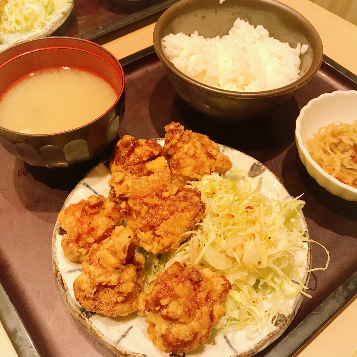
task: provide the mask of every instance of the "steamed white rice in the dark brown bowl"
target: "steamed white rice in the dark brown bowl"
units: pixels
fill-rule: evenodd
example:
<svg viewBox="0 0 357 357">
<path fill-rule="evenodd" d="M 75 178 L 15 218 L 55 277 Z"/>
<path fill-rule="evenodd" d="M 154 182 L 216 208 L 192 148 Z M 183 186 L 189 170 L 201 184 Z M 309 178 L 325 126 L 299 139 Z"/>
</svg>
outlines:
<svg viewBox="0 0 357 357">
<path fill-rule="evenodd" d="M 198 32 L 170 34 L 163 41 L 169 60 L 187 76 L 232 91 L 265 91 L 292 83 L 300 76 L 300 54 L 308 45 L 291 48 L 237 19 L 228 35 L 206 39 Z"/>
</svg>

